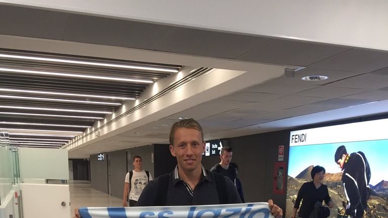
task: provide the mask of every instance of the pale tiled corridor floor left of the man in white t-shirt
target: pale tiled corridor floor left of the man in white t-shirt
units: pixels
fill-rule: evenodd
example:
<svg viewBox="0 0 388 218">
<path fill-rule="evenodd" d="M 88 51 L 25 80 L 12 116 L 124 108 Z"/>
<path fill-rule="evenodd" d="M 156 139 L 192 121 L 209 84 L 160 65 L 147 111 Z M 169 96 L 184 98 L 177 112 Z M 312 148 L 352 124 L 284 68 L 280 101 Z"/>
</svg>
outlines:
<svg viewBox="0 0 388 218">
<path fill-rule="evenodd" d="M 122 199 L 91 188 L 89 181 L 70 180 L 71 213 L 77 207 L 121 206 Z"/>
</svg>

